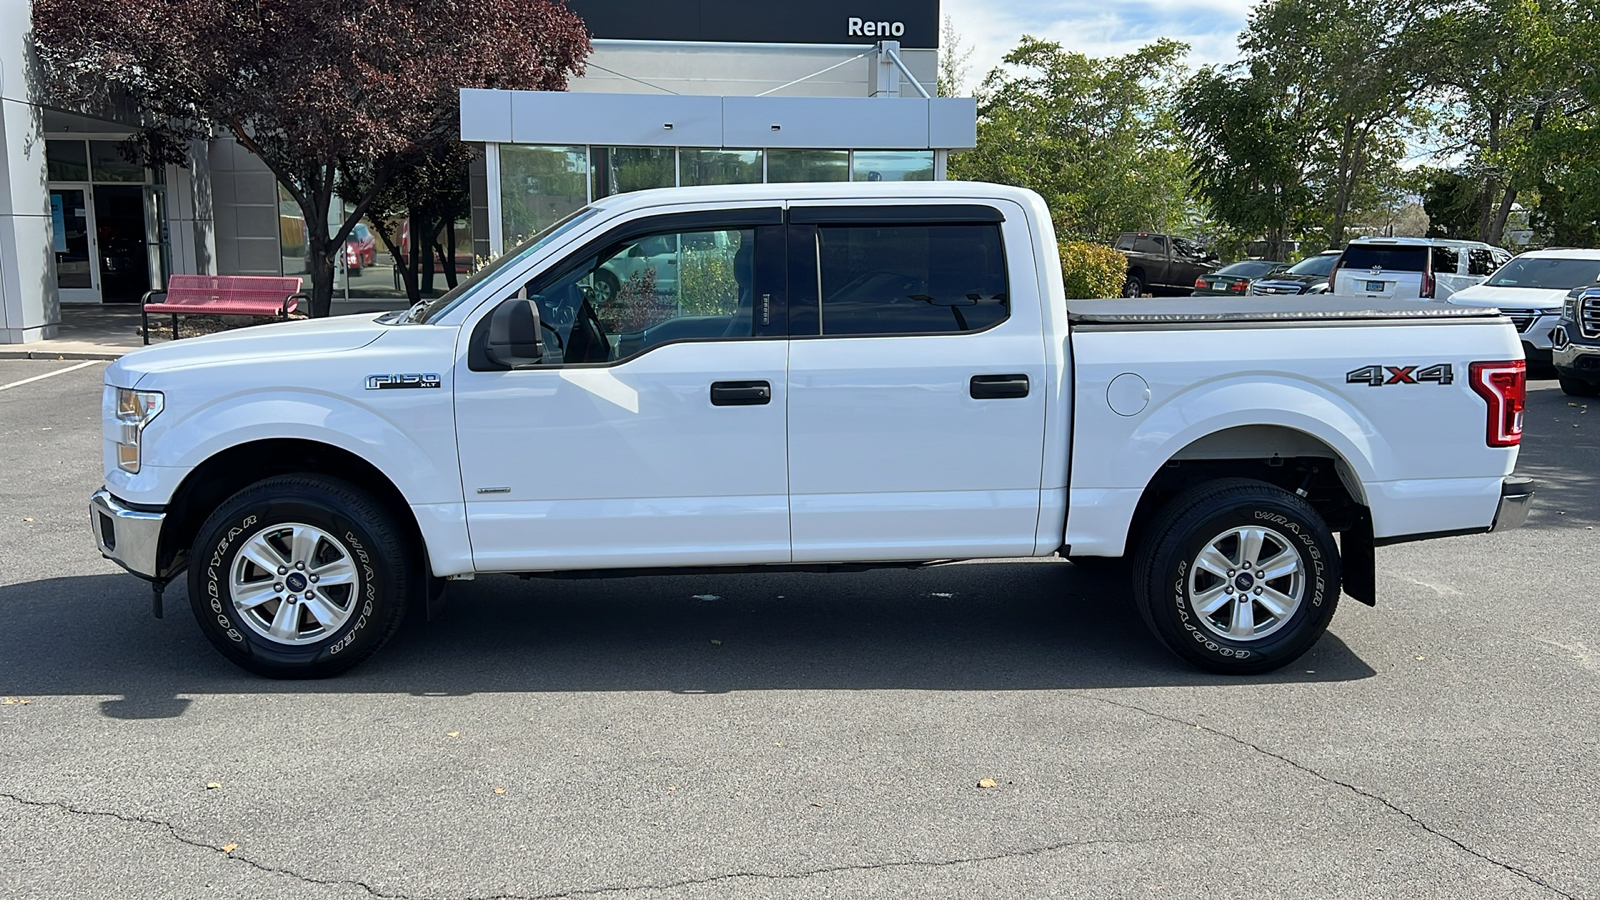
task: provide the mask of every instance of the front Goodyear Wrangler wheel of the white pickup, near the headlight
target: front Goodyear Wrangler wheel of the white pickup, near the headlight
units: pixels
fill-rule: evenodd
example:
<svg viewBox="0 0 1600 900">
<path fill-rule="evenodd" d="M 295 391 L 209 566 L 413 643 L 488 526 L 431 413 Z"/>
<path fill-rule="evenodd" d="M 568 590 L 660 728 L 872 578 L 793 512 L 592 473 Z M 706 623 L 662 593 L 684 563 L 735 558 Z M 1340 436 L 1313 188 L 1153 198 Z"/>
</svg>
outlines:
<svg viewBox="0 0 1600 900">
<path fill-rule="evenodd" d="M 200 527 L 189 602 L 206 639 L 267 677 L 326 677 L 371 657 L 416 583 L 400 532 L 347 482 L 277 476 Z"/>
</svg>

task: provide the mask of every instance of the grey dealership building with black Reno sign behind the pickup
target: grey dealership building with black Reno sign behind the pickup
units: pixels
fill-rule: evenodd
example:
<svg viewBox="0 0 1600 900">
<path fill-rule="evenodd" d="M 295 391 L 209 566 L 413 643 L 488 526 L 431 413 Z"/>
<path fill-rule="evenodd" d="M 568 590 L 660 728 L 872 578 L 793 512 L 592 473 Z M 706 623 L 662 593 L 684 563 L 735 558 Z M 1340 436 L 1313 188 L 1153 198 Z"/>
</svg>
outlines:
<svg viewBox="0 0 1600 900">
<path fill-rule="evenodd" d="M 461 93 L 470 240 L 499 253 L 594 199 L 691 184 L 938 179 L 971 147 L 970 98 L 931 98 L 938 0 L 568 0 L 594 35 L 568 93 Z M 133 110 L 42 101 L 29 3 L 0 11 L 0 343 L 54 336 L 61 306 L 136 303 L 174 272 L 306 272 L 299 208 L 216 138 L 187 167 L 117 152 Z M 338 215 L 338 211 L 330 211 Z M 464 248 L 462 248 L 464 250 Z M 386 266 L 341 272 L 398 295 Z"/>
</svg>

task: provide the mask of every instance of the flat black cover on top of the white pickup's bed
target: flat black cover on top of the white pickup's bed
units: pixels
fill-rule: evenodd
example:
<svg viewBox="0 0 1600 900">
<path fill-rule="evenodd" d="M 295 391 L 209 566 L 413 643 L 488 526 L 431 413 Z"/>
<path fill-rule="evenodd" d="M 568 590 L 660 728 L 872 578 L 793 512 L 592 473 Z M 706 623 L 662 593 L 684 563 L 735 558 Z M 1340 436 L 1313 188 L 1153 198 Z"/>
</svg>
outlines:
<svg viewBox="0 0 1600 900">
<path fill-rule="evenodd" d="M 1317 322 L 1349 325 L 1498 319 L 1498 309 L 1472 309 L 1445 303 L 1382 303 L 1360 298 L 1218 296 L 1069 299 L 1074 327 L 1163 328 L 1174 325 L 1296 325 Z"/>
</svg>

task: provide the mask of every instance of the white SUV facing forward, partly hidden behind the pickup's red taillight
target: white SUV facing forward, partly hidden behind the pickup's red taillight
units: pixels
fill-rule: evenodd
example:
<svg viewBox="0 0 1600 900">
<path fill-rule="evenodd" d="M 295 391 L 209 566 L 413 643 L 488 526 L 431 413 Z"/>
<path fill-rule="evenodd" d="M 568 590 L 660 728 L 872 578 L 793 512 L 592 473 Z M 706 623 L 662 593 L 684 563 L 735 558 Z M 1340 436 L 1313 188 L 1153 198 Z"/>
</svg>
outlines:
<svg viewBox="0 0 1600 900">
<path fill-rule="evenodd" d="M 1531 250 L 1490 280 L 1456 291 L 1458 306 L 1499 307 L 1517 325 L 1528 362 L 1550 364 L 1550 333 L 1573 288 L 1600 282 L 1600 250 Z"/>
</svg>

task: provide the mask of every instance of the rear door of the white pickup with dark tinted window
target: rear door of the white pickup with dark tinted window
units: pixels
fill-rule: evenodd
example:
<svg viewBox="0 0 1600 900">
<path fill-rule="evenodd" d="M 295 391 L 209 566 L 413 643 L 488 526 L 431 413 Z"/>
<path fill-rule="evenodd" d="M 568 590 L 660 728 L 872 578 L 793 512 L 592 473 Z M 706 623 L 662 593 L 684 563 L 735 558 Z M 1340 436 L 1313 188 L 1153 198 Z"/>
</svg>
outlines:
<svg viewBox="0 0 1600 900">
<path fill-rule="evenodd" d="M 1045 346 L 1030 247 L 1003 202 L 790 208 L 795 562 L 1032 554 Z"/>
</svg>

